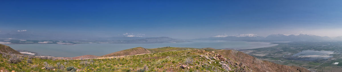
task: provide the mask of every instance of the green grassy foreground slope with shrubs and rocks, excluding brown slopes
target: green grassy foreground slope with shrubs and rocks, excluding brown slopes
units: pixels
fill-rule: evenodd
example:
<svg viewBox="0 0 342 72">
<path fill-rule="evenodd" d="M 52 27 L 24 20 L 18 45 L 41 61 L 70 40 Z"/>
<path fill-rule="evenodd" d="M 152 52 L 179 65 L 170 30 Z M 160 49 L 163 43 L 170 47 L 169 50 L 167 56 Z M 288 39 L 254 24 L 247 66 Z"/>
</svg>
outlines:
<svg viewBox="0 0 342 72">
<path fill-rule="evenodd" d="M 8 61 L 9 58 L 16 57 L 15 55 L 6 55 L 0 57 L 0 70 L 60 72 L 66 71 L 66 67 L 75 67 L 77 68 L 77 71 L 80 72 L 226 71 L 220 65 L 220 60 L 206 58 L 205 56 L 213 57 L 214 55 L 205 53 L 206 52 L 199 52 L 199 50 L 183 50 L 86 60 L 53 60 L 51 58 L 41 57 L 30 59 L 25 55 L 17 55 L 21 60 L 17 63 L 10 63 Z M 201 57 L 200 55 L 205 56 Z M 31 60 L 31 63 L 29 60 Z M 46 63 L 44 64 L 44 62 Z M 182 65 L 184 65 L 183 68 L 181 68 Z M 44 66 L 50 66 L 50 68 L 43 68 Z"/>
</svg>

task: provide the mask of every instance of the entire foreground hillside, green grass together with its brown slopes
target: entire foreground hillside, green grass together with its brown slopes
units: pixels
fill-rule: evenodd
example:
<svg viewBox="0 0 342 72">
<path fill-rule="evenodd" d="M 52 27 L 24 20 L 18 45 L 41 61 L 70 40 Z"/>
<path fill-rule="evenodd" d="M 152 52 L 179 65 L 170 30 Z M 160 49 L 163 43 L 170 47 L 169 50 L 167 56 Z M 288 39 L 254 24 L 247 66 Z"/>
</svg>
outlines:
<svg viewBox="0 0 342 72">
<path fill-rule="evenodd" d="M 133 48 L 107 58 L 63 59 L 0 52 L 3 72 L 309 72 L 262 61 L 235 50 L 212 48 Z M 76 58 L 76 57 L 75 57 Z"/>
</svg>

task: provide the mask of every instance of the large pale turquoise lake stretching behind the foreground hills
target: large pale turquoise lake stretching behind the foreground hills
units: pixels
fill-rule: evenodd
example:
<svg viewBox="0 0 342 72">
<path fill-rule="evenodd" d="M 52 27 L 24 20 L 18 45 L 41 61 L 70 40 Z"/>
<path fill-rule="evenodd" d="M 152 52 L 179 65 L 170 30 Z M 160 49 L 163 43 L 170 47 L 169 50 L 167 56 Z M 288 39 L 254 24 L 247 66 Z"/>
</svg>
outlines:
<svg viewBox="0 0 342 72">
<path fill-rule="evenodd" d="M 75 57 L 81 55 L 105 55 L 121 50 L 135 47 L 160 48 L 160 47 L 186 47 L 186 48 L 215 48 L 215 49 L 255 49 L 276 46 L 269 42 L 248 42 L 248 41 L 223 41 L 223 40 L 193 40 L 192 42 L 181 43 L 151 43 L 151 44 L 105 44 L 105 43 L 84 43 L 76 45 L 64 44 L 5 44 L 15 50 L 36 52 L 42 55 L 55 57 Z"/>
</svg>

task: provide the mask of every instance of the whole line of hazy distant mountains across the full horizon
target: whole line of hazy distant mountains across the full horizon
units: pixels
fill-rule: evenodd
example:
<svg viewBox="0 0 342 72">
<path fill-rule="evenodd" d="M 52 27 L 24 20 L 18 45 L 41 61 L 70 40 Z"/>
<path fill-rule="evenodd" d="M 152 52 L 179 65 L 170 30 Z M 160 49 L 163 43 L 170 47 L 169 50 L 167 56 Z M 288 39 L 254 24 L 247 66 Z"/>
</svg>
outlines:
<svg viewBox="0 0 342 72">
<path fill-rule="evenodd" d="M 96 37 L 96 38 L 79 38 L 66 39 L 53 36 L 40 36 L 31 34 L 0 34 L 0 39 L 17 39 L 17 40 L 55 40 L 69 42 L 107 42 L 107 43 L 175 43 L 188 42 L 182 39 L 174 39 L 169 37 L 142 37 L 142 36 L 122 36 L 122 37 Z M 267 37 L 258 36 L 256 34 L 241 35 L 218 35 L 209 38 L 198 38 L 193 40 L 229 40 L 229 41 L 342 41 L 342 36 L 330 38 L 327 36 L 316 36 L 312 34 L 272 34 Z"/>
</svg>

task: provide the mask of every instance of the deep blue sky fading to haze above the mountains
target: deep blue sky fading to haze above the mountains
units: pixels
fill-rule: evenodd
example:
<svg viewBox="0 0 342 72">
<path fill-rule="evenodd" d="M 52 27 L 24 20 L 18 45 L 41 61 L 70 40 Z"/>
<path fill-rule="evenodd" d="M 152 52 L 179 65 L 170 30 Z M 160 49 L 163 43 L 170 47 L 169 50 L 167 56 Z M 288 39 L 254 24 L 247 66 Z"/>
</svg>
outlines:
<svg viewBox="0 0 342 72">
<path fill-rule="evenodd" d="M 0 31 L 65 37 L 334 37 L 342 36 L 342 0 L 1 0 Z"/>
</svg>

